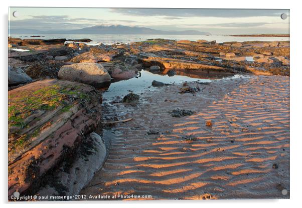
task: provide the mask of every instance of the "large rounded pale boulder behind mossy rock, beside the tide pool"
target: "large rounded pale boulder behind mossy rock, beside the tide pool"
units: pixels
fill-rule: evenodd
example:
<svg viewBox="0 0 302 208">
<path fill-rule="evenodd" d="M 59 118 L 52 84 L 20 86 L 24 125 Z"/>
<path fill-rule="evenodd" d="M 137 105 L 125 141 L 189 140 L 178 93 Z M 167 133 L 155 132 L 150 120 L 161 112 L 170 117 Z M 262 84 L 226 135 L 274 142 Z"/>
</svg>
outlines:
<svg viewBox="0 0 302 208">
<path fill-rule="evenodd" d="M 111 77 L 108 71 L 99 63 L 74 63 L 63 65 L 59 72 L 60 79 L 78 81 L 97 88 L 108 86 Z"/>
</svg>

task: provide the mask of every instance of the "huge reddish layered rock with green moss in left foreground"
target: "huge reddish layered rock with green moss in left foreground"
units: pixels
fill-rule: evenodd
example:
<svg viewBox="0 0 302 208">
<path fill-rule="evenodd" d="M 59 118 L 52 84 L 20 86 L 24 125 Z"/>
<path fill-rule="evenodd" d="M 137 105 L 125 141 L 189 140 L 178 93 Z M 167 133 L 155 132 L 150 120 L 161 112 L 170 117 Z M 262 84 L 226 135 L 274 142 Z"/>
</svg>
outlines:
<svg viewBox="0 0 302 208">
<path fill-rule="evenodd" d="M 9 195 L 40 184 L 47 172 L 74 156 L 100 121 L 100 98 L 92 86 L 57 79 L 10 90 Z"/>
</svg>

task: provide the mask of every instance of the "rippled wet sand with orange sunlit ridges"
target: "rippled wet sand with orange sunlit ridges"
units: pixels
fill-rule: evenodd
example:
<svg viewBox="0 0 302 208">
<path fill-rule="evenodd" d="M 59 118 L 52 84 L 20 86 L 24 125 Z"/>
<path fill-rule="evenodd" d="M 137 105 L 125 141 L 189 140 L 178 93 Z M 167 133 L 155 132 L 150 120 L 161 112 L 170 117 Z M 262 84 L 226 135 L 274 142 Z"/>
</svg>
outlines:
<svg viewBox="0 0 302 208">
<path fill-rule="evenodd" d="M 109 129 L 115 136 L 108 159 L 81 194 L 288 198 L 289 77 L 250 75 L 198 86 L 194 95 L 178 93 L 181 84 L 144 92 L 137 105 L 104 102 L 103 116 L 133 119 Z M 172 117 L 175 108 L 195 113 Z M 150 129 L 160 134 L 147 134 Z"/>
</svg>

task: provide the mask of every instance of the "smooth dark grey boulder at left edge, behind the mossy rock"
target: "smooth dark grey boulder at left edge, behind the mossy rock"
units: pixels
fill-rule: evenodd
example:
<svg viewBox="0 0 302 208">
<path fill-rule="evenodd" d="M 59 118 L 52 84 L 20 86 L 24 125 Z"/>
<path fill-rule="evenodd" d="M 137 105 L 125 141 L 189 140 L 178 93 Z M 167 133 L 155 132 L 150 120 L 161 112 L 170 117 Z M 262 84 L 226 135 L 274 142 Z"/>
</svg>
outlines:
<svg viewBox="0 0 302 208">
<path fill-rule="evenodd" d="M 9 85 L 17 85 L 31 82 L 32 78 L 21 68 L 9 66 Z"/>
</svg>

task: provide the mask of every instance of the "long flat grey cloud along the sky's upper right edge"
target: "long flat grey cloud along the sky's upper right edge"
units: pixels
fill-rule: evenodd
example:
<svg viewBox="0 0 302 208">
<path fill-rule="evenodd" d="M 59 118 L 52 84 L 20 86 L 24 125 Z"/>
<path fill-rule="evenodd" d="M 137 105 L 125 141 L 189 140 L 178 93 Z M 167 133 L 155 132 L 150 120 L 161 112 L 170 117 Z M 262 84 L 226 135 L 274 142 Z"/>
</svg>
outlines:
<svg viewBox="0 0 302 208">
<path fill-rule="evenodd" d="M 205 8 L 111 8 L 111 11 L 132 16 L 211 16 L 211 17 L 248 17 L 279 16 L 289 14 L 288 9 L 205 9 Z"/>
</svg>

